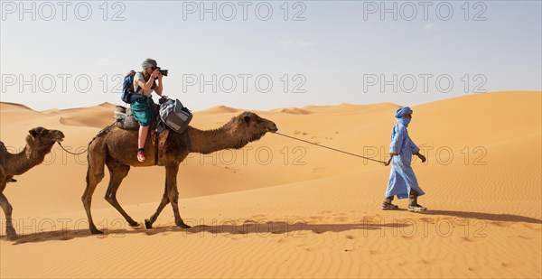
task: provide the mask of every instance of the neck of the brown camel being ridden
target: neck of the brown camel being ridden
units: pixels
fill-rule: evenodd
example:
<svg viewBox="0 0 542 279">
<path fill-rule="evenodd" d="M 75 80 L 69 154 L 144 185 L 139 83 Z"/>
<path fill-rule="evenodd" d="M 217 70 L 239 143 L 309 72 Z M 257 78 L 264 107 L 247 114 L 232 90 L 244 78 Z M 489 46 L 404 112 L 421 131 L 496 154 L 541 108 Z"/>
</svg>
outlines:
<svg viewBox="0 0 542 279">
<path fill-rule="evenodd" d="M 224 149 L 238 149 L 248 144 L 248 140 L 231 129 L 222 126 L 218 129 L 202 131 L 188 127 L 191 141 L 191 153 L 213 153 Z"/>
</svg>

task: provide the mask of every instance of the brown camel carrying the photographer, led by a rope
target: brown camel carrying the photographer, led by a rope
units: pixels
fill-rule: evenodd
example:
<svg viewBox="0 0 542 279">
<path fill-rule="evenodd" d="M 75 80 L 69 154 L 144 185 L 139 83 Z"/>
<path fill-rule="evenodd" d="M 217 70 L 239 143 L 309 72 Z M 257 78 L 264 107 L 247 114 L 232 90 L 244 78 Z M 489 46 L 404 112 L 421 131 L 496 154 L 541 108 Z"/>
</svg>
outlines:
<svg viewBox="0 0 542 279">
<path fill-rule="evenodd" d="M 158 154 L 158 165 L 165 167 L 164 196 L 153 216 L 150 219 L 145 219 L 145 228 L 152 228 L 162 209 L 170 202 L 173 207 L 175 224 L 180 228 L 190 228 L 182 221 L 179 214 L 179 192 L 177 191 L 179 164 L 189 153 L 208 154 L 223 149 L 239 149 L 250 142 L 257 141 L 267 132 L 275 133 L 277 130 L 272 121 L 252 112 L 243 112 L 239 116 L 231 118 L 227 124 L 218 129 L 201 131 L 189 126 L 182 134 L 169 133 L 164 151 L 159 151 Z M 154 164 L 154 146 L 150 138 L 147 138 L 145 144 L 147 161 L 145 163 L 138 162 L 135 153 L 137 153 L 137 131 L 113 127 L 90 142 L 87 189 L 81 200 L 87 211 L 91 233 L 102 233 L 92 221 L 90 203 L 96 186 L 104 178 L 105 165 L 110 173 L 105 199 L 120 212 L 131 227 L 139 226 L 118 204 L 117 190 L 128 174 L 130 166 L 148 167 Z"/>
</svg>

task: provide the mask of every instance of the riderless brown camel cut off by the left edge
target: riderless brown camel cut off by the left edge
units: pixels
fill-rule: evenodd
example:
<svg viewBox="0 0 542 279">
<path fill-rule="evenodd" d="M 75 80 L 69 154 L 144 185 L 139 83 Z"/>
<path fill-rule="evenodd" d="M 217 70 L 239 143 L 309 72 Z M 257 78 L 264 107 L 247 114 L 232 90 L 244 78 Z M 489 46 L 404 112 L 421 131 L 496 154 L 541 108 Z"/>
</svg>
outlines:
<svg viewBox="0 0 542 279">
<path fill-rule="evenodd" d="M 8 239 L 17 237 L 12 224 L 13 208 L 5 198 L 4 190 L 7 182 L 14 181 L 14 175 L 21 175 L 43 162 L 45 155 L 51 152 L 52 145 L 61 142 L 64 134 L 57 130 L 36 127 L 28 131 L 26 146 L 21 153 L 12 154 L 0 142 L 0 206 L 5 213 L 5 233 Z"/>
</svg>

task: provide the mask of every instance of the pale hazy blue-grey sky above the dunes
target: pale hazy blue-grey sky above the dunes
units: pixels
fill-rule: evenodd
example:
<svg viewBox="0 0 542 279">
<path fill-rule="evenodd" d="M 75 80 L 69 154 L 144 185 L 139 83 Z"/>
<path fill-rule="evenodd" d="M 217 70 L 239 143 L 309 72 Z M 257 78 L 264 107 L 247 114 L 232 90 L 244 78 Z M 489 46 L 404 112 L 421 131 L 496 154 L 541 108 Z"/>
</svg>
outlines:
<svg viewBox="0 0 542 279">
<path fill-rule="evenodd" d="M 122 105 L 146 58 L 192 110 L 542 89 L 541 1 L 2 1 L 0 100 Z M 154 98 L 156 99 L 156 98 Z"/>
</svg>

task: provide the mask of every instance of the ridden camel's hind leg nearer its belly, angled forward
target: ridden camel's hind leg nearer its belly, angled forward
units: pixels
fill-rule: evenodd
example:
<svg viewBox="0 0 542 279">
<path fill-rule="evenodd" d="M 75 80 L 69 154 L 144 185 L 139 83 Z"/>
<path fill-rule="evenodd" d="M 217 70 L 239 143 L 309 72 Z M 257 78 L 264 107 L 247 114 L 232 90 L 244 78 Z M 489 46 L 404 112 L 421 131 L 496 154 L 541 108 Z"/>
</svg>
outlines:
<svg viewBox="0 0 542 279">
<path fill-rule="evenodd" d="M 107 169 L 109 169 L 109 173 L 111 176 L 111 179 L 109 180 L 109 186 L 107 187 L 106 192 L 106 200 L 120 212 L 120 214 L 126 219 L 126 222 L 131 227 L 138 227 L 139 223 L 135 222 L 134 219 L 132 219 L 124 209 L 120 206 L 120 204 L 117 201 L 117 190 L 118 187 L 120 187 L 120 183 L 126 175 L 128 175 L 128 172 L 130 171 L 130 166 L 125 164 L 120 164 L 114 161 L 107 161 Z"/>
</svg>

